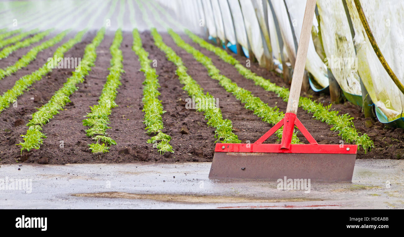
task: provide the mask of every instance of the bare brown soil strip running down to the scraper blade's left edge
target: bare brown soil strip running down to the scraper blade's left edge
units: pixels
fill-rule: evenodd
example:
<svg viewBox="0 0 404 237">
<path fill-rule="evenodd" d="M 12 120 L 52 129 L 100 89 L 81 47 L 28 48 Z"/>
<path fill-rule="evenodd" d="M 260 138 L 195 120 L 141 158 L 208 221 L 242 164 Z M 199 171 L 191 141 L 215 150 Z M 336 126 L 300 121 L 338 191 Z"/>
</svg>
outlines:
<svg viewBox="0 0 404 237">
<path fill-rule="evenodd" d="M 185 109 L 185 99 L 189 96 L 181 89 L 183 85 L 175 74 L 177 67 L 154 45 L 149 32 L 144 32 L 141 36 L 143 47 L 149 52 L 149 59 L 156 59 L 158 63 L 156 71 L 160 75 L 161 86 L 159 99 L 167 111 L 162 115 L 163 132 L 171 136 L 170 144 L 176 150 L 165 160 L 212 161 L 215 129 L 208 127 L 201 112 Z M 181 129 L 187 131 L 187 134 L 182 134 Z"/>
</svg>

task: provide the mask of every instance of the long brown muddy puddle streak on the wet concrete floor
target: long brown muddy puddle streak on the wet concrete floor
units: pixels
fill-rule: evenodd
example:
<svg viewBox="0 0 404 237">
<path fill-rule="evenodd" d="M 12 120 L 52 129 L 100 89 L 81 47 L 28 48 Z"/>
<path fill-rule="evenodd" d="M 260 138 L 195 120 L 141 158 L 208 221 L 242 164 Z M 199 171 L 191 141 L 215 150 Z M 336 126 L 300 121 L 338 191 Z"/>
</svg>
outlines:
<svg viewBox="0 0 404 237">
<path fill-rule="evenodd" d="M 213 195 L 170 195 L 170 194 L 135 194 L 122 192 L 105 192 L 105 193 L 78 193 L 76 197 L 105 197 L 105 198 L 125 198 L 125 199 L 151 199 L 165 202 L 182 202 L 182 203 L 272 203 L 272 202 L 299 202 L 299 201 L 322 201 L 323 199 L 254 199 L 246 197 L 229 197 L 229 196 L 213 196 Z"/>
</svg>

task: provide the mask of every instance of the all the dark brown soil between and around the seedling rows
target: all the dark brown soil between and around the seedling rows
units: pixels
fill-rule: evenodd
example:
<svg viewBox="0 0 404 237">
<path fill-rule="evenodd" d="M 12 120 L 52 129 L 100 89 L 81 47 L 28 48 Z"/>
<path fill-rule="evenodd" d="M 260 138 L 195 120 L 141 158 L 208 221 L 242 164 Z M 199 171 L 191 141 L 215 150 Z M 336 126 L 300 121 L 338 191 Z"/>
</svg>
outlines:
<svg viewBox="0 0 404 237">
<path fill-rule="evenodd" d="M 141 19 L 137 20 L 140 21 Z M 69 38 L 72 36 L 70 34 Z M 82 57 L 84 47 L 90 43 L 94 36 L 95 31 L 86 34 L 84 40 L 68 51 L 65 57 Z M 204 88 L 205 92 L 209 92 L 219 99 L 223 118 L 228 118 L 232 121 L 234 132 L 240 140 L 254 142 L 271 128 L 272 125 L 264 123 L 252 111 L 245 109 L 244 104 L 240 103 L 231 93 L 225 91 L 217 80 L 210 78 L 204 66 L 198 63 L 192 55 L 177 47 L 170 36 L 164 33 L 162 36 L 164 42 L 181 56 L 185 66 L 188 68 L 188 74 Z M 87 144 L 92 141 L 91 138 L 86 136 L 84 130 L 87 128 L 82 125 L 82 120 L 86 113 L 90 112 L 89 106 L 97 104 L 98 97 L 109 73 L 109 60 L 111 59 L 109 47 L 113 37 L 114 32 L 108 31 L 105 39 L 97 48 L 95 66 L 90 71 L 90 74 L 86 76 L 84 83 L 78 85 L 78 91 L 70 97 L 72 102 L 67 104 L 63 111 L 60 111 L 49 123 L 43 126 L 43 132 L 46 133 L 47 138 L 44 139 L 44 144 L 41 145 L 39 150 L 24 152 L 21 155 L 19 146 L 15 146 L 15 144 L 23 141 L 20 135 L 26 133 L 28 127 L 25 124 L 31 118 L 32 113 L 36 112 L 36 108 L 48 102 L 53 93 L 71 75 L 72 69 L 53 70 L 18 98 L 17 108 L 11 106 L 11 108 L 7 108 L 0 113 L 0 163 L 15 163 L 16 161 L 50 164 L 212 161 L 213 147 L 216 141 L 214 138 L 215 129 L 207 126 L 201 112 L 185 109 L 185 99 L 189 96 L 183 91 L 183 85 L 179 83 L 178 76 L 175 74 L 176 66 L 168 61 L 164 53 L 154 45 L 149 32 L 141 33 L 141 38 L 145 50 L 149 52 L 149 59 L 157 60 L 156 71 L 161 85 L 159 99 L 162 101 L 164 110 L 167 111 L 162 115 L 163 132 L 171 136 L 170 144 L 175 152 L 172 154 L 159 154 L 157 149 L 153 148 L 153 144 L 146 143 L 147 139 L 153 134 L 147 135 L 143 124 L 144 112 L 142 112 L 141 99 L 143 97 L 142 83 L 144 75 L 143 72 L 139 71 L 138 58 L 131 49 L 133 41 L 131 32 L 124 32 L 121 49 L 125 73 L 122 74 L 122 85 L 118 89 L 116 97 L 118 107 L 114 108 L 110 115 L 109 126 L 112 129 L 107 130 L 107 133 L 117 142 L 117 145 L 110 146 L 109 152 L 100 157 L 95 157 L 88 150 Z M 252 91 L 255 96 L 260 97 L 269 106 L 277 106 L 282 111 L 286 109 L 286 103 L 274 93 L 255 86 L 252 81 L 238 74 L 233 66 L 224 63 L 213 53 L 201 49 L 191 42 L 187 36 L 183 36 L 183 38 L 202 53 L 211 57 L 213 63 L 221 70 L 222 74 L 231 78 L 240 87 Z M 63 42 L 65 40 L 67 38 Z M 3 93 L 12 87 L 21 76 L 42 66 L 46 59 L 63 42 L 39 53 L 37 59 L 29 64 L 27 69 L 19 70 L 15 75 L 0 80 L 0 92 Z M 7 64 L 13 63 L 24 52 L 26 51 L 19 50 L 8 58 L 0 60 L 0 67 L 4 68 Z M 245 61 L 245 58 L 238 55 L 234 55 L 234 57 L 240 61 Z M 260 68 L 257 63 L 252 63 L 250 69 L 258 75 L 277 83 L 277 85 L 288 86 L 274 72 L 268 72 Z M 327 95 L 312 94 L 309 96 L 324 104 L 329 103 Z M 351 105 L 349 102 L 333 105 L 332 108 L 355 117 L 356 128 L 359 131 L 368 133 L 374 140 L 375 148 L 367 154 L 359 151 L 358 158 L 397 159 L 404 156 L 402 150 L 404 146 L 401 142 L 403 132 L 401 129 L 385 128 L 381 123 L 372 120 L 366 122 L 369 119 L 363 118 L 360 108 Z M 320 144 L 339 144 L 339 141 L 342 140 L 337 132 L 330 131 L 329 125 L 312 119 L 312 114 L 299 109 L 298 116 Z M 187 132 L 181 132 L 181 130 Z M 298 136 L 303 142 L 306 142 L 301 133 L 298 133 Z M 276 137 L 271 137 L 267 142 L 276 143 Z"/>
</svg>

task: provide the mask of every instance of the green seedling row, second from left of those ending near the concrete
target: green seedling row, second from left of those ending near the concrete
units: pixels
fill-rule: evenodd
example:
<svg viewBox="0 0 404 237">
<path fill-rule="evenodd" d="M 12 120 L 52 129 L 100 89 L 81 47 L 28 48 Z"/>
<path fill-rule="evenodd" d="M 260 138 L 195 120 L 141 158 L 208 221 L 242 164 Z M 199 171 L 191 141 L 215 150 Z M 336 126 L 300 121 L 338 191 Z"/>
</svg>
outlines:
<svg viewBox="0 0 404 237">
<path fill-rule="evenodd" d="M 116 142 L 108 137 L 106 130 L 111 128 L 108 127 L 108 125 L 112 108 L 118 106 L 115 103 L 115 98 L 118 93 L 117 89 L 119 85 L 121 85 L 121 74 L 124 72 L 122 51 L 119 49 L 121 43 L 122 30 L 118 29 L 115 32 L 114 40 L 109 48 L 112 58 L 107 81 L 102 89 L 98 104 L 93 107 L 90 106 L 91 112 L 87 113 L 87 118 L 83 120 L 83 125 L 90 127 L 86 130 L 87 136 L 95 140 L 95 143 L 88 145 L 90 146 L 89 149 L 94 154 L 109 152 L 108 145 L 116 145 Z"/>
</svg>

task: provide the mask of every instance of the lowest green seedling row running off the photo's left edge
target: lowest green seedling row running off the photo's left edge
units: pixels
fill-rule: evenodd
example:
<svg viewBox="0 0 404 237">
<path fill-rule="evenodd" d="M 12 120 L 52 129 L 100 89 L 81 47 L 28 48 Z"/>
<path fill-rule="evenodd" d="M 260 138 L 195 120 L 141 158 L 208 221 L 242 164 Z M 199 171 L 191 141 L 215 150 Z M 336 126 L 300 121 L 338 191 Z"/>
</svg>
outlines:
<svg viewBox="0 0 404 237">
<path fill-rule="evenodd" d="M 75 44 L 82 40 L 83 35 L 86 33 L 86 31 L 87 30 L 82 30 L 78 32 L 74 38 L 68 40 L 60 47 L 58 47 L 53 54 L 53 58 L 63 58 L 63 55 L 69 49 L 71 49 Z M 15 82 L 14 86 L 11 89 L 8 89 L 6 92 L 3 93 L 3 95 L 0 96 L 0 112 L 8 108 L 11 103 L 15 103 L 17 101 L 17 97 L 22 95 L 24 91 L 28 89 L 28 87 L 30 87 L 36 81 L 41 80 L 44 75 L 52 72 L 52 70 L 53 68 L 49 67 L 48 62 L 46 62 L 38 70 L 19 78 L 19 80 Z"/>
</svg>

